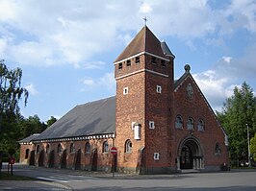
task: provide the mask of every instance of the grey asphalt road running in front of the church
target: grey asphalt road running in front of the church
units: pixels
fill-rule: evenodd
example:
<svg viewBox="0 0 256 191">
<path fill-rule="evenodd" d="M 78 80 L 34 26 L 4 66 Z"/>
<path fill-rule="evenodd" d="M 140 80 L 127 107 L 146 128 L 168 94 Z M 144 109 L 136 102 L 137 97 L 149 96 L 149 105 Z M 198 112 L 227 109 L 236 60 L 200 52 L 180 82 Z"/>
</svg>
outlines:
<svg viewBox="0 0 256 191">
<path fill-rule="evenodd" d="M 58 183 L 72 190 L 256 191 L 256 171 L 125 176 L 17 165 L 15 175 Z"/>
</svg>

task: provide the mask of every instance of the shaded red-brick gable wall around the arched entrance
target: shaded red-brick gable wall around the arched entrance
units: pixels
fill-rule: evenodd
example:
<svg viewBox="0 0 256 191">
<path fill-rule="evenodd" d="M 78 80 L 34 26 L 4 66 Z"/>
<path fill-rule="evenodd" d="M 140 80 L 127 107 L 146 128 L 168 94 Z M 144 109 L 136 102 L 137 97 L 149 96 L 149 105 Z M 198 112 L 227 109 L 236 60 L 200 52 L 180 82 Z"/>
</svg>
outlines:
<svg viewBox="0 0 256 191">
<path fill-rule="evenodd" d="M 192 99 L 188 98 L 187 85 L 192 84 L 193 96 Z M 191 132 L 192 136 L 199 139 L 201 148 L 203 150 L 204 164 L 207 166 L 219 166 L 223 163 L 228 163 L 227 147 L 224 144 L 224 133 L 221 130 L 216 115 L 211 111 L 209 105 L 205 102 L 203 95 L 194 84 L 191 77 L 176 88 L 174 93 L 174 118 L 171 124 L 171 154 L 172 165 L 173 159 L 178 155 L 178 147 L 180 142 L 188 137 Z M 175 129 L 175 117 L 181 115 L 183 118 L 183 129 Z M 187 130 L 187 121 L 192 117 L 194 122 L 194 131 Z M 205 123 L 205 131 L 197 131 L 197 124 L 199 119 Z M 221 155 L 215 154 L 216 144 L 221 147 Z"/>
</svg>

